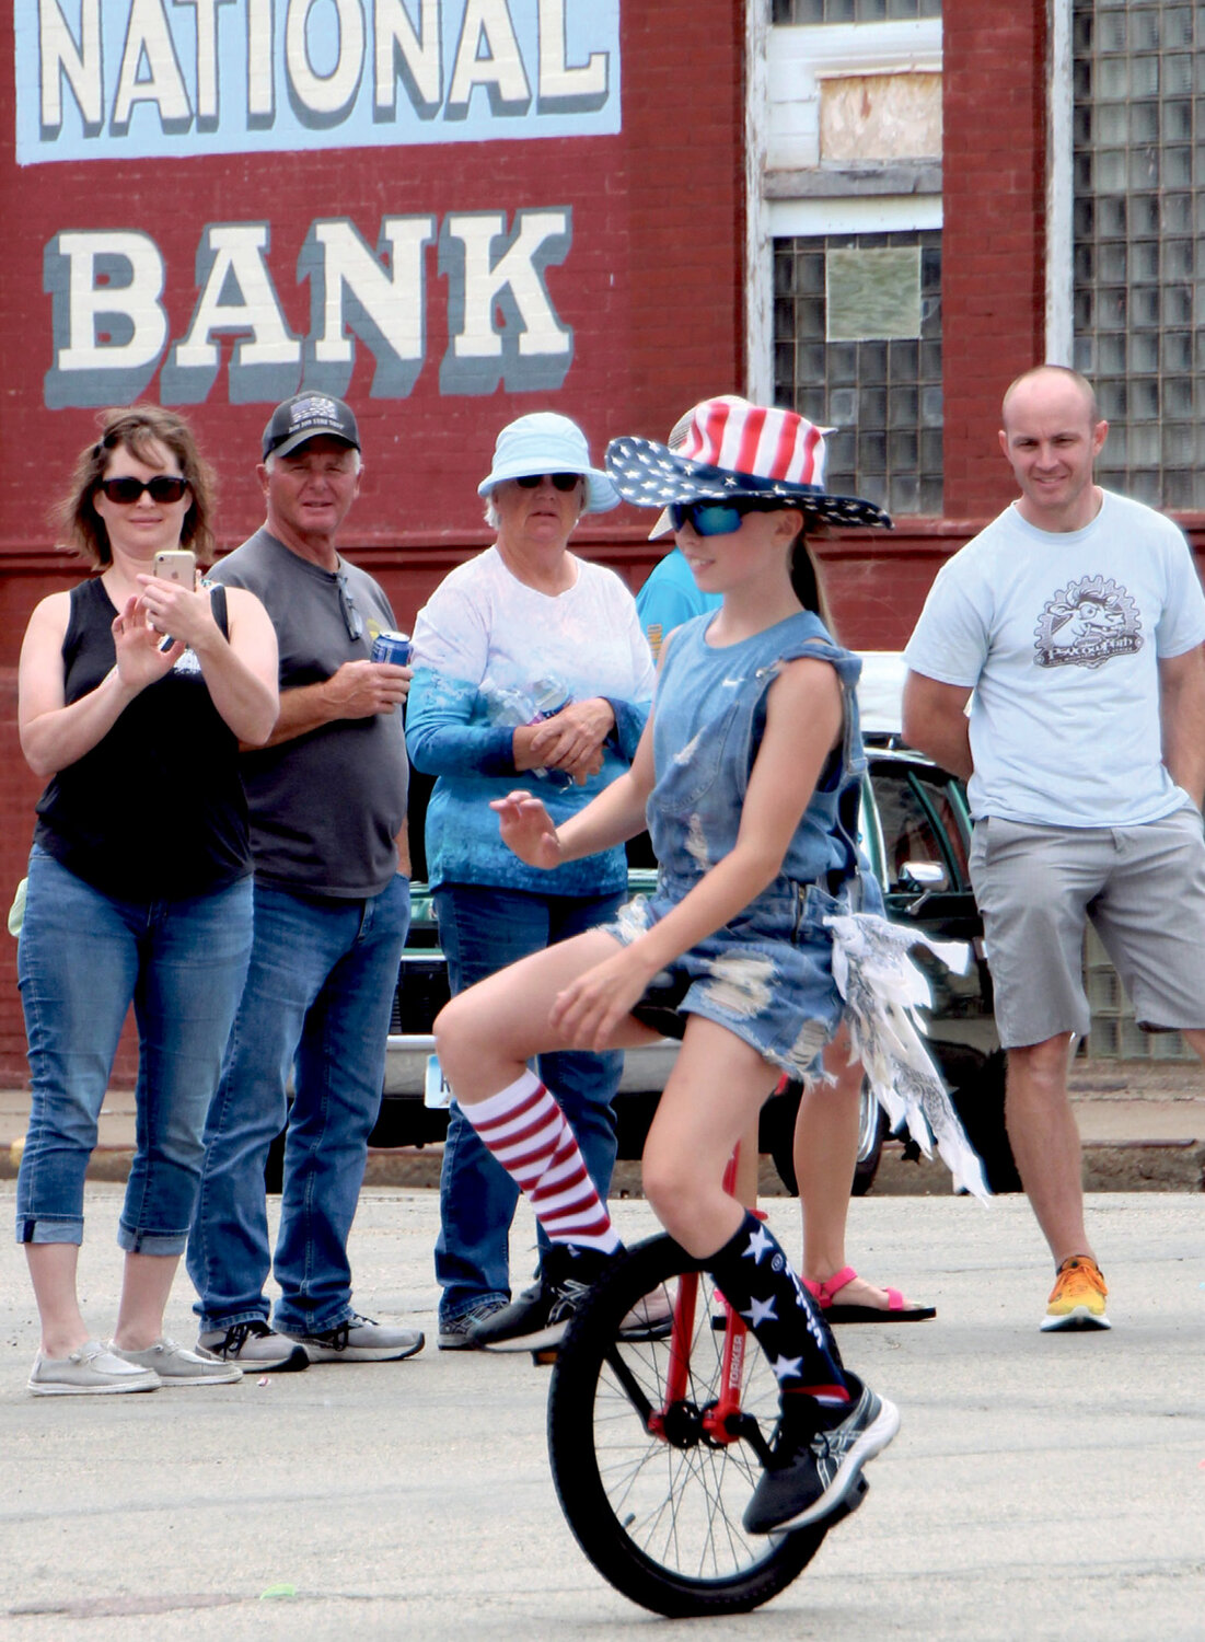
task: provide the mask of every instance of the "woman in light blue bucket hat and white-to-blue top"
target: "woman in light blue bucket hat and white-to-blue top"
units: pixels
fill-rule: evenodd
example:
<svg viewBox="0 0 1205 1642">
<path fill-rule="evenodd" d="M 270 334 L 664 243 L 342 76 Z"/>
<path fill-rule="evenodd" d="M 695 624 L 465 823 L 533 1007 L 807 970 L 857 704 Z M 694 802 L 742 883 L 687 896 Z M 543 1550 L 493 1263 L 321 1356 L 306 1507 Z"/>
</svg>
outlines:
<svg viewBox="0 0 1205 1642">
<path fill-rule="evenodd" d="M 453 992 L 614 916 L 627 888 L 622 846 L 540 872 L 502 844 L 489 800 L 520 777 L 553 814 L 576 814 L 629 768 L 653 691 L 632 594 L 568 548 L 583 514 L 619 504 L 576 422 L 553 410 L 509 422 L 478 494 L 496 542 L 419 612 L 405 722 L 415 768 L 437 777 L 427 875 Z M 606 1197 L 622 1056 L 555 1054 L 542 1067 Z M 543 1277 L 509 1304 L 517 1195 L 453 1103 L 435 1246 L 445 1351 L 506 1350 L 552 1304 Z"/>
</svg>

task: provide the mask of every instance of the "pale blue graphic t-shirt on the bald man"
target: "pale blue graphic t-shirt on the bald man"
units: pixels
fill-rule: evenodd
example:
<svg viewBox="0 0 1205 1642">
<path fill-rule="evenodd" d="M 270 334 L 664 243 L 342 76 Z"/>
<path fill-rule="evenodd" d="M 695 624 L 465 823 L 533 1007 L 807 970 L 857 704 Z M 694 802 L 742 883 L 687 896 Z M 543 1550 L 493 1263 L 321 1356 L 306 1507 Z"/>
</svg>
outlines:
<svg viewBox="0 0 1205 1642">
<path fill-rule="evenodd" d="M 1205 642 L 1177 527 L 1103 491 L 1082 530 L 1006 507 L 937 573 L 908 667 L 967 685 L 972 814 L 1141 826 L 1185 801 L 1162 762 L 1159 662 Z"/>
</svg>

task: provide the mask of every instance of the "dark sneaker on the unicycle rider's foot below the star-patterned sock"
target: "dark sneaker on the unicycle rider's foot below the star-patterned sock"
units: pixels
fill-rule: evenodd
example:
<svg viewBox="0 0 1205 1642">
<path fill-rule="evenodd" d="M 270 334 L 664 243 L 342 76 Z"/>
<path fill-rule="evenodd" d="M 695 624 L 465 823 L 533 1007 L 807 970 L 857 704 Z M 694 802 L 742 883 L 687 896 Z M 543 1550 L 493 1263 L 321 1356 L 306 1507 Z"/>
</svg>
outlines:
<svg viewBox="0 0 1205 1642">
<path fill-rule="evenodd" d="M 847 1373 L 845 1384 L 852 1404 L 821 1409 L 821 1430 L 816 1404 L 786 1392 L 772 1465 L 745 1506 L 745 1532 L 801 1529 L 857 1501 L 862 1466 L 900 1430 L 900 1410 L 855 1374 Z"/>
</svg>

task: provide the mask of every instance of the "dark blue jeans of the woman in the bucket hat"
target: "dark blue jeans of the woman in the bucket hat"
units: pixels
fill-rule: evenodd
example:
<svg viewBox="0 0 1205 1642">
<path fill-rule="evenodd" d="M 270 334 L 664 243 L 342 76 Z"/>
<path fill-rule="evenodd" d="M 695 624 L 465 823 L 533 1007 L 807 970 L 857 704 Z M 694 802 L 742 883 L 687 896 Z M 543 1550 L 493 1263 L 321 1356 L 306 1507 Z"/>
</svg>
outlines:
<svg viewBox="0 0 1205 1642">
<path fill-rule="evenodd" d="M 532 895 L 481 883 L 443 883 L 435 890 L 440 946 L 453 993 L 484 980 L 545 946 L 607 923 L 622 895 Z M 581 1146 L 599 1197 L 606 1202 L 616 1164 L 611 1103 L 624 1056 L 542 1054 L 538 1071 L 561 1105 Z M 440 1235 L 435 1277 L 443 1289 L 440 1323 L 463 1317 L 483 1299 L 511 1299 L 511 1222 L 519 1187 L 481 1144 L 453 1100 L 440 1174 Z M 540 1232 L 540 1246 L 547 1238 Z"/>
</svg>

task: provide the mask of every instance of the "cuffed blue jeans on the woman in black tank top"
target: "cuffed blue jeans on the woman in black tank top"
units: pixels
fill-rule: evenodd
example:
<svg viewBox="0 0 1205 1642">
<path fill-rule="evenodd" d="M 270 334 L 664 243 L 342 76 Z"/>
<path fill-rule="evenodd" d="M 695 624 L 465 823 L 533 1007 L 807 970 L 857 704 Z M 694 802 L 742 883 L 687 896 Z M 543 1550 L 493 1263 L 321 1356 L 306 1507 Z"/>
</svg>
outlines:
<svg viewBox="0 0 1205 1642">
<path fill-rule="evenodd" d="M 33 1087 L 18 1243 L 84 1240 L 84 1172 L 133 1003 L 136 1149 L 117 1240 L 138 1254 L 182 1251 L 250 951 L 250 878 L 179 901 L 118 901 L 34 846 L 16 949 Z"/>
</svg>

